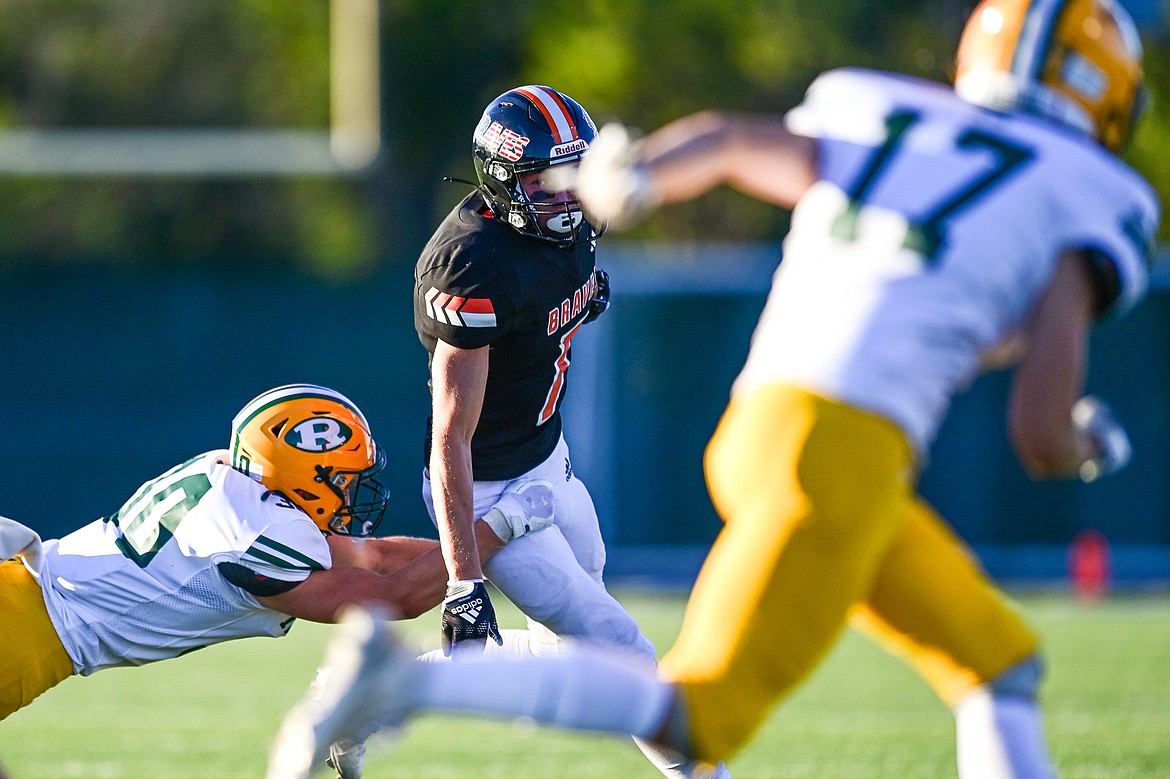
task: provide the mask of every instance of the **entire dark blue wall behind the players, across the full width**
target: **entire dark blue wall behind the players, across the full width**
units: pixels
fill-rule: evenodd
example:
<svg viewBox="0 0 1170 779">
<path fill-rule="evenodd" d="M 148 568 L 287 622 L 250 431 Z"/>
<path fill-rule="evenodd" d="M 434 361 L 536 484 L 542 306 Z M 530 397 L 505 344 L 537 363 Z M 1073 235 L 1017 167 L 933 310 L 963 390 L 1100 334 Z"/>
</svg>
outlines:
<svg viewBox="0 0 1170 779">
<path fill-rule="evenodd" d="M 748 350 L 775 247 L 629 247 L 601 255 L 614 305 L 576 342 L 566 401 L 574 467 L 632 572 L 689 571 L 718 531 L 702 451 Z M 225 447 L 235 412 L 278 384 L 349 394 L 390 454 L 392 532 L 433 536 L 419 496 L 426 352 L 411 269 L 357 284 L 246 264 L 167 274 L 0 275 L 0 513 L 57 536 L 116 510 L 145 480 Z M 1170 291 L 1094 337 L 1089 389 L 1130 430 L 1134 463 L 1094 485 L 1037 484 L 1007 446 L 1010 375 L 957 400 L 923 492 L 1005 575 L 1052 575 L 1082 529 L 1170 578 Z M 681 556 L 666 554 L 673 547 Z M 654 567 L 649 566 L 649 567 Z"/>
</svg>

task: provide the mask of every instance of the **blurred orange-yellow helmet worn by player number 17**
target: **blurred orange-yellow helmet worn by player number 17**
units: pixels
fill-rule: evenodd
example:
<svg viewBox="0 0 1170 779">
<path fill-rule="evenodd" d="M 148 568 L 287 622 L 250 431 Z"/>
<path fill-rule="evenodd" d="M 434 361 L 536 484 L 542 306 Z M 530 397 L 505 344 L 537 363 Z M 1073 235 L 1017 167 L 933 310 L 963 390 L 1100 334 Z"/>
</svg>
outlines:
<svg viewBox="0 0 1170 779">
<path fill-rule="evenodd" d="M 1116 152 L 1141 112 L 1142 42 L 1116 0 L 983 0 L 959 41 L 955 91 L 1039 113 Z"/>
</svg>

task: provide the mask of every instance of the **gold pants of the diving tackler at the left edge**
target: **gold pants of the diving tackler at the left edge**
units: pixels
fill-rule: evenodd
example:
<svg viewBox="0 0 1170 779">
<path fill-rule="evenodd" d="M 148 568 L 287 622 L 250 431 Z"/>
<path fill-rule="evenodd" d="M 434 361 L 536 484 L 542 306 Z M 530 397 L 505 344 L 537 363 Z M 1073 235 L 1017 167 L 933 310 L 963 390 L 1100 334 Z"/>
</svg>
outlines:
<svg viewBox="0 0 1170 779">
<path fill-rule="evenodd" d="M 71 675 L 41 586 L 23 563 L 0 561 L 0 719 Z"/>
</svg>

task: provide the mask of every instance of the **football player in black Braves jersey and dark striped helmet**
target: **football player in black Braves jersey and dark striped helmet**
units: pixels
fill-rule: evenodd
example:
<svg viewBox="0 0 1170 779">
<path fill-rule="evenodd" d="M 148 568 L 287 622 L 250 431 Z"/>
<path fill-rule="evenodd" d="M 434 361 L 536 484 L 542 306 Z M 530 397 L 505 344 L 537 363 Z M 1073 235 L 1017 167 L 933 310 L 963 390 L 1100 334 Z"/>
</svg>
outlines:
<svg viewBox="0 0 1170 779">
<path fill-rule="evenodd" d="M 422 492 L 450 575 L 448 656 L 480 654 L 488 637 L 503 644 L 487 574 L 529 619 L 528 632 L 509 632 L 526 644 L 519 652 L 555 652 L 563 636 L 655 657 L 603 585 L 597 511 L 562 435 L 573 337 L 608 306 L 608 278 L 594 264 L 598 226 L 549 172 L 576 165 L 596 135 L 585 109 L 549 87 L 491 101 L 474 133 L 479 184 L 415 267 L 414 326 L 433 397 Z M 517 478 L 553 484 L 556 524 L 481 566 L 470 543 L 477 506 Z M 651 759 L 667 775 L 689 775 L 672 758 Z"/>
</svg>

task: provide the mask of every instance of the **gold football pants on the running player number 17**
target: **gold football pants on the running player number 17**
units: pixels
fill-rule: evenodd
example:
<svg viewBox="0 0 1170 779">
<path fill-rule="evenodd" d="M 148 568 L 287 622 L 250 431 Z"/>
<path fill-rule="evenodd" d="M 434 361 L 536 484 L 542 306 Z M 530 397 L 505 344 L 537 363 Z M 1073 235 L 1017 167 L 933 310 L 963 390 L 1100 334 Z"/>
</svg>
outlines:
<svg viewBox="0 0 1170 779">
<path fill-rule="evenodd" d="M 948 704 L 1037 650 L 913 468 L 882 418 L 786 385 L 732 399 L 706 456 L 725 526 L 661 663 L 695 757 L 742 747 L 851 616 Z"/>
</svg>

